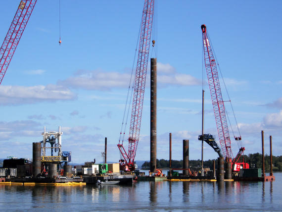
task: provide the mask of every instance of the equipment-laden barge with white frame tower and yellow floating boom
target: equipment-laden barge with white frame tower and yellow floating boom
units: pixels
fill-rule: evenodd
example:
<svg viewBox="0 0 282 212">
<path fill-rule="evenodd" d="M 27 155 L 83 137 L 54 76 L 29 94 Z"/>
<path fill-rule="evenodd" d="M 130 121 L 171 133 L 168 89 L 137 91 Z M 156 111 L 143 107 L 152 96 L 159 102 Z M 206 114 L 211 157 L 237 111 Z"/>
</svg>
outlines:
<svg viewBox="0 0 282 212">
<path fill-rule="evenodd" d="M 33 143 L 32 161 L 13 157 L 4 159 L 0 168 L 0 185 L 119 184 L 132 183 L 136 178 L 134 172 L 120 171 L 119 163 L 106 163 L 106 149 L 102 154 L 103 163 L 70 165 L 71 152 L 61 149 L 62 134 L 60 127 L 58 132 L 47 132 L 45 127 L 43 141 Z M 50 150 L 50 156 L 47 150 Z"/>
</svg>

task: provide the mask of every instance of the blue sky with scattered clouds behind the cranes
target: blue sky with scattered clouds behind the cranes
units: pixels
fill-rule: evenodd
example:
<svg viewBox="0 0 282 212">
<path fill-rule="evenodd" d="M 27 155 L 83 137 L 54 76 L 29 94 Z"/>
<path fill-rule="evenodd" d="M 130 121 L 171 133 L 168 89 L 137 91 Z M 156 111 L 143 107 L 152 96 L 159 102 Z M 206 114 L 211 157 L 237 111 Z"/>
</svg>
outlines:
<svg viewBox="0 0 282 212">
<path fill-rule="evenodd" d="M 1 1 L 0 42 L 20 0 Z M 127 88 L 143 9 L 143 0 L 38 0 L 0 85 L 0 158 L 32 158 L 41 133 L 61 126 L 62 150 L 72 162 L 117 162 Z M 245 155 L 265 153 L 272 135 L 273 155 L 282 155 L 282 1 L 155 0 L 150 57 L 157 57 L 157 158 L 201 159 L 202 88 L 204 133 L 218 140 L 206 72 L 202 66 L 205 24 L 235 110 Z M 150 65 L 148 64 L 148 68 Z M 202 78 L 204 76 L 204 86 Z M 149 78 L 149 71 L 147 79 Z M 222 82 L 222 81 L 221 81 Z M 223 99 L 228 101 L 223 83 Z M 149 80 L 143 103 L 135 160 L 149 160 Z M 226 104 L 235 136 L 230 104 Z M 229 124 L 230 125 L 230 124 Z M 233 133 L 230 128 L 230 135 Z M 127 136 L 129 132 L 129 124 Z M 124 146 L 127 148 L 125 142 Z M 232 151 L 238 152 L 232 140 Z M 218 155 L 204 144 L 204 159 Z"/>
</svg>

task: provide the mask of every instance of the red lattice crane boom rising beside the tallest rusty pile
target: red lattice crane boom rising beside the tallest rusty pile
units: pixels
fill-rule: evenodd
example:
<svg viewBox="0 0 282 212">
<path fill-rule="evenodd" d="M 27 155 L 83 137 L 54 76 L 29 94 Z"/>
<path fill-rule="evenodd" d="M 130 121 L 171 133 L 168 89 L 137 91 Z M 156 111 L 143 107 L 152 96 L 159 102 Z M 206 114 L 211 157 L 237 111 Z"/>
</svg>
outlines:
<svg viewBox="0 0 282 212">
<path fill-rule="evenodd" d="M 136 150 L 139 142 L 153 15 L 154 0 L 145 0 L 141 22 L 138 60 L 135 74 L 134 94 L 128 138 L 128 152 L 126 152 L 123 146 L 123 140 L 119 140 L 119 144 L 117 145 L 123 158 L 121 159 L 121 167 L 124 170 L 135 169 L 134 159 L 136 156 Z"/>
</svg>

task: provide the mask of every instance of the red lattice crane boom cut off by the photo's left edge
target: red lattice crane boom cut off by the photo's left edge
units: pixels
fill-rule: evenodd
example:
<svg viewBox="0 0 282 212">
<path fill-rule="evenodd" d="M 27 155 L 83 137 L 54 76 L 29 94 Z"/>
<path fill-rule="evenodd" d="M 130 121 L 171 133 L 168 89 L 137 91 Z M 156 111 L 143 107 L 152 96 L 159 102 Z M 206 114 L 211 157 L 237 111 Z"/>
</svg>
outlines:
<svg viewBox="0 0 282 212">
<path fill-rule="evenodd" d="M 0 84 L 15 53 L 18 43 L 21 39 L 23 31 L 33 11 L 37 0 L 21 0 L 0 48 Z"/>
</svg>

